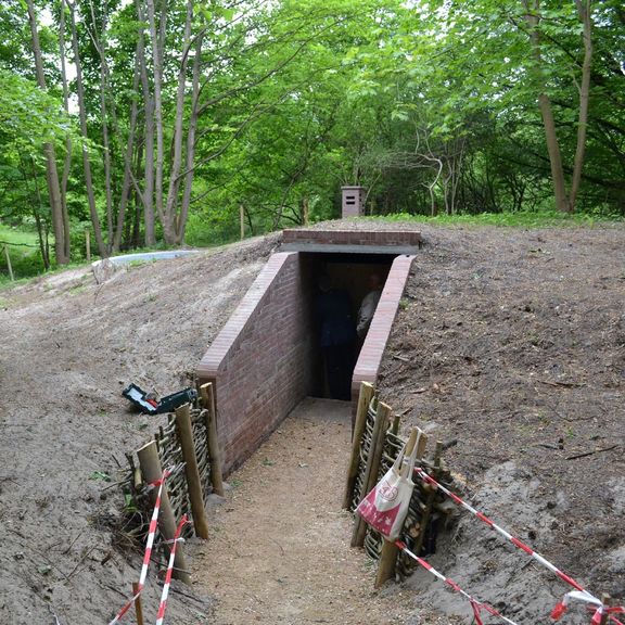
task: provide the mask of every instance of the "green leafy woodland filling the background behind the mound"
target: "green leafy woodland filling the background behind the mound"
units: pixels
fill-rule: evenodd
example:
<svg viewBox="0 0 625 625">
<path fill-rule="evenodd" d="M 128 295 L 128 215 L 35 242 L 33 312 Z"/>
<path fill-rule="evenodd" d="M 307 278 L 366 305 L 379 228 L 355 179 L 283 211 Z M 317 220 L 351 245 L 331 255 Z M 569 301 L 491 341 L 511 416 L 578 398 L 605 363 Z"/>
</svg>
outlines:
<svg viewBox="0 0 625 625">
<path fill-rule="evenodd" d="M 58 263 L 85 228 L 105 256 L 329 218 L 342 184 L 369 214 L 625 213 L 618 0 L 0 14 L 0 220 L 51 232 Z"/>
</svg>

